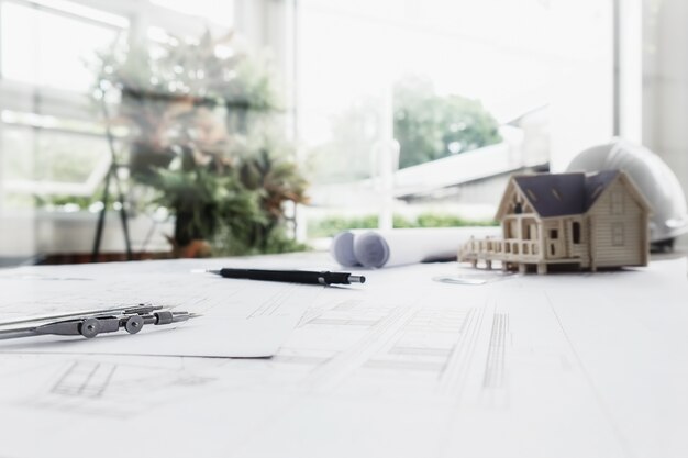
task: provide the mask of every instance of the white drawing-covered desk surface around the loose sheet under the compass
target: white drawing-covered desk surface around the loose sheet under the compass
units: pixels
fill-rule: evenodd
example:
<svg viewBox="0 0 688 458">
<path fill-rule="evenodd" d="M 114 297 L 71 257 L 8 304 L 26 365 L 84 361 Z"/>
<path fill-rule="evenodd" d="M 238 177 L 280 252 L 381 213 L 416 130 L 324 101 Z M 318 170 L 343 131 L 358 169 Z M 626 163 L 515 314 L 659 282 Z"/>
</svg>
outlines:
<svg viewBox="0 0 688 458">
<path fill-rule="evenodd" d="M 308 254 L 82 269 L 116 271 L 126 289 L 230 262 L 336 268 Z M 0 290 L 65 269 L 0 271 Z M 484 272 L 415 265 L 366 271 L 364 286 L 299 286 L 318 294 L 269 359 L 0 353 L 0 456 L 688 456 L 685 258 L 433 281 L 459 273 Z M 10 305 L 0 295 L 0 314 Z"/>
</svg>

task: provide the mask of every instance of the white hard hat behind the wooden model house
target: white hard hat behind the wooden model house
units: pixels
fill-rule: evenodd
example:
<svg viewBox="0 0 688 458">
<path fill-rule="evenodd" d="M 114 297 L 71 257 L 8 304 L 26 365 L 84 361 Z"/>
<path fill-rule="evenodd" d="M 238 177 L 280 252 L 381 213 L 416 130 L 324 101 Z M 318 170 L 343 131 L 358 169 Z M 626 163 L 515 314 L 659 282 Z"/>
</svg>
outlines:
<svg viewBox="0 0 688 458">
<path fill-rule="evenodd" d="M 650 149 L 622 139 L 579 153 L 568 171 L 624 170 L 652 205 L 650 241 L 673 244 L 688 232 L 686 196 L 676 175 Z"/>
</svg>

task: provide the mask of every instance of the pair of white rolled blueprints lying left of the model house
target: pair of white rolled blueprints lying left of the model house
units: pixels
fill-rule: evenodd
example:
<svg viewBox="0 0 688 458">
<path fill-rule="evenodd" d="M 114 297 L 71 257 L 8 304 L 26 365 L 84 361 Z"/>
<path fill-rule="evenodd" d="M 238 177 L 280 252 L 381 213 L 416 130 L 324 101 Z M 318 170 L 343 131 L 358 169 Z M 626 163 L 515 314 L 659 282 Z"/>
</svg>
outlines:
<svg viewBox="0 0 688 458">
<path fill-rule="evenodd" d="M 500 227 L 433 227 L 391 231 L 346 231 L 332 241 L 330 253 L 344 267 L 390 267 L 456 258 L 470 237 L 499 237 Z"/>
</svg>

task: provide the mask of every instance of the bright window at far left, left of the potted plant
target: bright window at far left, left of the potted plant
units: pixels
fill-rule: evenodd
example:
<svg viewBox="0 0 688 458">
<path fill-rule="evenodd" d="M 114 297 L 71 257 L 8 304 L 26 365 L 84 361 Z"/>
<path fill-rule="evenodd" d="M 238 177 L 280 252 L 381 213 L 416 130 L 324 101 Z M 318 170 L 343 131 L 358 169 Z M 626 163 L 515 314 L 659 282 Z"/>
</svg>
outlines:
<svg viewBox="0 0 688 458">
<path fill-rule="evenodd" d="M 0 1 L 0 209 L 96 191 L 110 156 L 88 64 L 127 27 L 79 3 Z"/>
</svg>

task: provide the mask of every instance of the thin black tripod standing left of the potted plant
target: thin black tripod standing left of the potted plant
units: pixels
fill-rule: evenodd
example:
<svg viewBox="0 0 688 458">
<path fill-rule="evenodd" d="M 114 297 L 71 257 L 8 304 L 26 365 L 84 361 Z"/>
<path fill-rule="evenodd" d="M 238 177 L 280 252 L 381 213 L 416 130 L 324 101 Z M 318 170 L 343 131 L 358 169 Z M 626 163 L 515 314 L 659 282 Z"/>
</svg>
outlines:
<svg viewBox="0 0 688 458">
<path fill-rule="evenodd" d="M 108 112 L 108 105 L 106 104 L 106 91 L 101 88 L 101 101 L 102 112 L 106 118 L 106 136 L 108 138 L 108 145 L 110 146 L 110 168 L 104 178 L 104 188 L 102 191 L 102 209 L 98 214 L 98 225 L 96 226 L 96 239 L 93 241 L 93 250 L 91 252 L 91 262 L 98 262 L 98 256 L 100 255 L 100 243 L 102 241 L 102 231 L 106 224 L 106 212 L 108 211 L 108 201 L 110 200 L 110 181 L 114 180 L 116 188 L 115 203 L 120 204 L 120 220 L 122 222 L 122 232 L 124 233 L 124 246 L 126 248 L 126 260 L 132 260 L 132 244 L 129 236 L 129 217 L 126 215 L 126 205 L 124 200 L 124 193 L 122 192 L 122 183 L 120 182 L 120 176 L 118 174 L 120 164 L 116 160 L 116 153 L 114 150 L 114 137 L 110 130 L 110 115 Z"/>
</svg>

